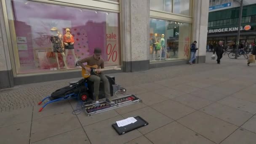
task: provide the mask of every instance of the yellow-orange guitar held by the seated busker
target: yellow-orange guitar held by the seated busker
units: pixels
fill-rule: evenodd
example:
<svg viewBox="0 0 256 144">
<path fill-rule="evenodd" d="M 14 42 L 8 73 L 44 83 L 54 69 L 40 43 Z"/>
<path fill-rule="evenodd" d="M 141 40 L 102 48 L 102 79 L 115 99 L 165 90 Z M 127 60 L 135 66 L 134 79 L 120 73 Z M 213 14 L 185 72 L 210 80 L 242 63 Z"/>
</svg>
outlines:
<svg viewBox="0 0 256 144">
<path fill-rule="evenodd" d="M 105 71 L 105 70 L 121 70 L 119 67 L 110 67 L 110 68 L 104 68 L 104 69 L 98 69 L 97 65 L 94 66 L 89 66 L 85 65 L 85 67 L 88 67 L 91 69 L 91 72 L 88 72 L 88 70 L 82 68 L 82 77 L 87 78 L 90 77 L 91 75 L 99 75 L 98 71 Z"/>
</svg>

